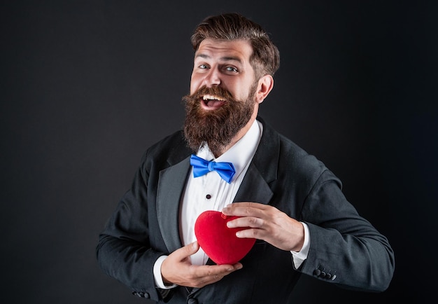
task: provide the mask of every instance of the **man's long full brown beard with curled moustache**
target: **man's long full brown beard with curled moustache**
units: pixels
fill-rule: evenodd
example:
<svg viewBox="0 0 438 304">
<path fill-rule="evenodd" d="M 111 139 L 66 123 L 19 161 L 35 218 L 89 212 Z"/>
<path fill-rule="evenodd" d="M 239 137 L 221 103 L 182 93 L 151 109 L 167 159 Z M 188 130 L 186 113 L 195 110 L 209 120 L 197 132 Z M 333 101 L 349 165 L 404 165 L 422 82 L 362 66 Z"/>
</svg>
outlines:
<svg viewBox="0 0 438 304">
<path fill-rule="evenodd" d="M 192 95 L 183 97 L 185 103 L 184 136 L 193 151 L 207 144 L 215 156 L 219 156 L 236 134 L 248 123 L 255 106 L 255 82 L 244 101 L 234 99 L 223 88 L 199 88 Z M 225 99 L 219 109 L 206 111 L 201 102 L 204 95 L 213 95 Z"/>
</svg>

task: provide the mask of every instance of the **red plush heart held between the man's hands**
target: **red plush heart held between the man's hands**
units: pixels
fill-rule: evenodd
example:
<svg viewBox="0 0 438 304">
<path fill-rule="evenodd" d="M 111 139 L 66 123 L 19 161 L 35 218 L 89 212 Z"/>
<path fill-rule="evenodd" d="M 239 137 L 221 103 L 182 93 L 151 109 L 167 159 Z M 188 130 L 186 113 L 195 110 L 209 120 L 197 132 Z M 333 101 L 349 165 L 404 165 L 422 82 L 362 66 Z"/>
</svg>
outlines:
<svg viewBox="0 0 438 304">
<path fill-rule="evenodd" d="M 234 264 L 246 256 L 255 243 L 253 238 L 239 239 L 236 232 L 246 228 L 228 228 L 227 222 L 238 216 L 208 210 L 199 214 L 195 235 L 199 246 L 216 264 Z"/>
</svg>

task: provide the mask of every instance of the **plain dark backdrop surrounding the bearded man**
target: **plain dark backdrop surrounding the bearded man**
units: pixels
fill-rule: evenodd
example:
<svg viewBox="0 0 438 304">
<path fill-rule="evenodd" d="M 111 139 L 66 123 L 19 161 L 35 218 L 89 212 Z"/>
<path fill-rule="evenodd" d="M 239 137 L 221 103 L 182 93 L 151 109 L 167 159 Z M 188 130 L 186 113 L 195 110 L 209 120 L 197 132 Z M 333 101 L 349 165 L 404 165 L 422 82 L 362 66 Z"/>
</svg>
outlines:
<svg viewBox="0 0 438 304">
<path fill-rule="evenodd" d="M 261 115 L 395 250 L 387 291 L 302 277 L 297 303 L 435 298 L 438 2 L 157 2 L 1 1 L 1 302 L 148 303 L 99 270 L 97 236 L 143 151 L 183 123 L 192 30 L 228 11 L 281 52 Z"/>
</svg>

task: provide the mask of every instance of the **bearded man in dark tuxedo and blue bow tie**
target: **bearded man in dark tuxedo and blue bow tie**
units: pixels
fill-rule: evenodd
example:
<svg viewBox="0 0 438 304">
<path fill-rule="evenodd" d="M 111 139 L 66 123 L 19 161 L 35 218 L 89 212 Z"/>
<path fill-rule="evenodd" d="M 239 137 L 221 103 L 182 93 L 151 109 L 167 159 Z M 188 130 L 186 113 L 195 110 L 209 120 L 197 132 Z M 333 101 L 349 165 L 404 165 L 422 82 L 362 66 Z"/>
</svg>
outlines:
<svg viewBox="0 0 438 304">
<path fill-rule="evenodd" d="M 302 274 L 386 290 L 395 267 L 387 238 L 323 163 L 257 116 L 279 66 L 267 33 L 223 14 L 201 22 L 192 45 L 184 130 L 144 153 L 99 235 L 102 270 L 157 303 L 292 303 Z M 219 163 L 231 172 L 211 169 Z M 214 263 L 199 247 L 195 222 L 209 210 L 236 216 L 227 227 L 255 239 L 241 261 Z"/>
</svg>

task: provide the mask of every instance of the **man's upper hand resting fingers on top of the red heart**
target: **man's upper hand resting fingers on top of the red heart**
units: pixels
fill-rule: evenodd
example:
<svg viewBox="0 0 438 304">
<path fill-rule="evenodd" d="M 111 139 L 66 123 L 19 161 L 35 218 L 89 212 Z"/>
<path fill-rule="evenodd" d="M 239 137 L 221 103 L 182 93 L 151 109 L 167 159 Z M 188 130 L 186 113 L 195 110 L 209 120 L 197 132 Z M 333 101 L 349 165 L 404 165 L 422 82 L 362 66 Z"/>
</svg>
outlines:
<svg viewBox="0 0 438 304">
<path fill-rule="evenodd" d="M 250 227 L 237 237 L 254 237 L 283 250 L 299 251 L 304 243 L 304 227 L 299 221 L 270 205 L 257 202 L 234 202 L 222 209 L 227 216 L 242 216 L 229 221 L 229 228 Z"/>
</svg>

